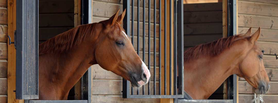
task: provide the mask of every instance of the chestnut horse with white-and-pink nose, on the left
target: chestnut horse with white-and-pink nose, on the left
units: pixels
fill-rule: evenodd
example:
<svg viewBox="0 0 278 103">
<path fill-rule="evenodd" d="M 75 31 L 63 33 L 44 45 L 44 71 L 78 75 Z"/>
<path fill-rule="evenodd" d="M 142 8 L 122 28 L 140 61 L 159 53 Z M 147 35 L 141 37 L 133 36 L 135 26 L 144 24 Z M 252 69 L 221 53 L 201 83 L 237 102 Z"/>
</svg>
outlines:
<svg viewBox="0 0 278 103">
<path fill-rule="evenodd" d="M 120 24 L 125 10 L 109 19 L 77 26 L 39 45 L 39 100 L 67 100 L 91 65 L 120 75 L 133 87 L 148 83 L 150 71 Z"/>
</svg>

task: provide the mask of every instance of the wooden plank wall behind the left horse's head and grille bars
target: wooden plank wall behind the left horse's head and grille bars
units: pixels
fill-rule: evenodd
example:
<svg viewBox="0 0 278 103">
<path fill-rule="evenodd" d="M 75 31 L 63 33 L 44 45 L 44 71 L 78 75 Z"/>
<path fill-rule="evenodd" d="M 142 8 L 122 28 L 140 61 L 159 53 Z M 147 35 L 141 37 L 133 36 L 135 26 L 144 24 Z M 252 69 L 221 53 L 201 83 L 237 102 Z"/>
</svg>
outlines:
<svg viewBox="0 0 278 103">
<path fill-rule="evenodd" d="M 93 23 L 95 22 L 99 22 L 102 20 L 106 20 L 109 19 L 113 14 L 116 13 L 116 11 L 118 9 L 120 9 L 120 13 L 122 13 L 122 0 L 92 0 L 92 21 Z M 157 37 L 158 37 L 158 24 L 157 26 L 157 30 L 153 30 L 153 2 L 151 3 L 152 7 L 151 7 L 151 80 L 153 80 L 153 40 L 156 39 L 157 40 L 157 48 L 155 48 L 158 51 L 158 38 L 153 38 L 153 32 L 156 32 Z M 137 20 L 137 2 L 135 2 L 135 20 Z M 143 19 L 142 19 L 142 13 L 143 13 L 143 1 L 140 1 L 140 57 L 142 58 L 142 31 L 143 31 Z M 148 21 L 148 1 L 146 0 L 146 22 Z M 157 9 L 158 9 L 158 1 L 157 1 Z M 131 15 L 131 14 L 130 14 Z M 130 16 L 131 17 L 131 16 Z M 157 10 L 157 23 L 158 23 L 158 10 Z M 137 50 L 137 21 L 134 22 L 134 47 L 135 50 Z M 131 23 L 130 23 L 131 24 Z M 131 28 L 131 27 L 130 27 Z M 145 32 L 146 32 L 146 36 L 148 36 L 148 23 L 146 23 L 145 26 Z M 131 34 L 131 33 L 130 33 Z M 148 37 L 146 37 L 146 51 L 148 50 Z M 158 53 L 156 53 L 157 55 L 157 65 L 158 65 Z M 147 52 L 145 54 L 145 60 L 146 60 L 146 64 L 148 64 L 148 55 Z M 158 68 L 156 68 L 157 73 L 156 75 L 158 76 Z M 99 102 L 125 102 L 125 103 L 140 103 L 140 102 L 144 102 L 144 103 L 158 103 L 160 102 L 160 99 L 123 99 L 122 98 L 122 77 L 104 70 L 103 68 L 101 68 L 99 65 L 93 65 L 93 70 L 92 70 L 92 99 L 94 103 L 99 103 Z M 157 77 L 157 81 L 158 81 L 158 77 Z M 151 84 L 153 84 L 153 81 L 151 81 Z M 151 85 L 151 88 L 153 88 L 153 85 Z M 145 93 L 147 93 L 147 86 L 145 87 Z M 151 89 L 151 91 L 153 91 Z M 134 93 L 136 94 L 136 91 L 134 91 Z M 140 94 L 142 94 L 142 87 L 140 88 Z M 152 93 L 153 94 L 153 93 Z M 157 94 L 158 94 L 158 82 L 157 82 Z"/>
</svg>

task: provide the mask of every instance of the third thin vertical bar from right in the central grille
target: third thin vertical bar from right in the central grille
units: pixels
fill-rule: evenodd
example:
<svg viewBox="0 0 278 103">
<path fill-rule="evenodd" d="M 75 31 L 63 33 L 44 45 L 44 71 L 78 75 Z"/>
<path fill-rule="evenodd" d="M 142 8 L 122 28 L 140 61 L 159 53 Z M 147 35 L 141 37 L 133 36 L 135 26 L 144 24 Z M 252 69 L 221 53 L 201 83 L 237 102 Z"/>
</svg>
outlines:
<svg viewBox="0 0 278 103">
<path fill-rule="evenodd" d="M 164 95 L 167 94 L 167 0 L 164 0 Z"/>
</svg>

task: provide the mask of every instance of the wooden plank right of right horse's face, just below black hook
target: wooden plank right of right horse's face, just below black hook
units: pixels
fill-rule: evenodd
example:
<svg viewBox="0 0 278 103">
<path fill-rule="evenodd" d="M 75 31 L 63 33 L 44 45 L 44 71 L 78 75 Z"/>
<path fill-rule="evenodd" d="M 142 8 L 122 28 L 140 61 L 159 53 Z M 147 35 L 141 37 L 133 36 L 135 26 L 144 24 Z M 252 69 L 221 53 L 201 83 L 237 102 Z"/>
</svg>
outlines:
<svg viewBox="0 0 278 103">
<path fill-rule="evenodd" d="M 276 60 L 274 55 L 264 55 L 263 61 L 265 68 L 278 68 L 278 60 Z"/>
</svg>

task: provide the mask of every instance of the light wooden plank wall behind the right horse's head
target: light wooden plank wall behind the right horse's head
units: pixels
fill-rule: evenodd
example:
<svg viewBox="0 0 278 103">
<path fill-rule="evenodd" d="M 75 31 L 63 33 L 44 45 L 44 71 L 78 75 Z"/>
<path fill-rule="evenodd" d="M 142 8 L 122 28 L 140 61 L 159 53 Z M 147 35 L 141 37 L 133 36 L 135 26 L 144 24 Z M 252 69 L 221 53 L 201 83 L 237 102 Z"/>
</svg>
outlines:
<svg viewBox="0 0 278 103">
<path fill-rule="evenodd" d="M 258 45 L 264 50 L 264 66 L 270 79 L 270 90 L 264 95 L 266 103 L 278 100 L 278 1 L 276 0 L 239 0 L 238 31 L 246 33 L 252 27 L 254 33 L 261 27 Z M 253 98 L 254 88 L 243 78 L 239 78 L 239 102 L 249 103 Z"/>
</svg>

